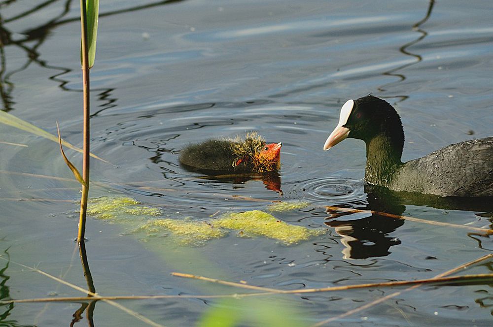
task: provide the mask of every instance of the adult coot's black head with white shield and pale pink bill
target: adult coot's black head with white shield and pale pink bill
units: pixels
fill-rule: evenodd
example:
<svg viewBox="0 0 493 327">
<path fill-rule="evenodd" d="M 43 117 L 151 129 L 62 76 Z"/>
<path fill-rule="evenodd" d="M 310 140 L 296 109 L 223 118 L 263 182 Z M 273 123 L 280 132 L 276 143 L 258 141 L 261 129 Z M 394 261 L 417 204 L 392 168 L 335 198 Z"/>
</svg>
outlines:
<svg viewBox="0 0 493 327">
<path fill-rule="evenodd" d="M 339 124 L 323 145 L 328 150 L 347 137 L 369 143 L 377 135 L 385 135 L 392 146 L 400 151 L 404 145 L 404 132 L 399 115 L 387 101 L 374 96 L 348 100 L 341 108 Z"/>
</svg>

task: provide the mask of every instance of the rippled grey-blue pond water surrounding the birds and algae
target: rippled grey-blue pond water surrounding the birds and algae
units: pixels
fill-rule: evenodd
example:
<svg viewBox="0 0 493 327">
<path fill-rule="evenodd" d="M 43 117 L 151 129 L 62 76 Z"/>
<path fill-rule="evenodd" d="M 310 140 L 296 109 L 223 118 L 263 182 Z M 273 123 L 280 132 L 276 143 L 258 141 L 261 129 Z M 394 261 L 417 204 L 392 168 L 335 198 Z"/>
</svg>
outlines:
<svg viewBox="0 0 493 327">
<path fill-rule="evenodd" d="M 491 209 L 468 200 L 450 205 L 373 196 L 361 181 L 362 142 L 348 139 L 322 151 L 344 101 L 368 93 L 399 112 L 403 160 L 492 135 L 491 1 L 107 0 L 100 14 L 91 70 L 92 151 L 112 165 L 93 161 L 92 181 L 106 184 L 92 186 L 90 196 L 132 196 L 176 219 L 303 199 L 312 205 L 276 216 L 328 233 L 292 246 L 232 233 L 186 248 L 166 238 L 142 242 L 119 224 L 89 219 L 86 245 L 99 294 L 216 293 L 172 271 L 285 290 L 430 278 L 491 251 L 490 238 L 466 229 L 368 213 L 330 220 L 325 205 L 490 228 L 491 215 L 484 213 Z M 52 133 L 58 120 L 64 138 L 81 146 L 78 15 L 78 1 L 0 2 L 0 95 L 2 110 Z M 252 130 L 283 143 L 283 197 L 261 180 L 202 179 L 178 164 L 179 149 L 189 142 Z M 0 250 L 8 249 L 12 261 L 0 262 L 7 267 L 0 275 L 2 298 L 82 295 L 13 263 L 85 285 L 74 252 L 77 221 L 66 214 L 77 205 L 60 201 L 79 197 L 76 184 L 14 174 L 71 178 L 57 145 L 4 125 L 0 141 L 29 145 L 0 143 Z M 70 158 L 81 160 L 75 152 Z M 467 272 L 492 269 L 486 262 Z M 297 307 L 313 324 L 392 292 L 271 301 Z M 193 326 L 216 303 L 122 302 L 164 326 Z M 3 305 L 0 320 L 68 326 L 79 306 Z M 492 309 L 487 285 L 422 287 L 332 325 L 491 326 Z M 103 302 L 94 320 L 96 326 L 147 326 Z"/>
</svg>

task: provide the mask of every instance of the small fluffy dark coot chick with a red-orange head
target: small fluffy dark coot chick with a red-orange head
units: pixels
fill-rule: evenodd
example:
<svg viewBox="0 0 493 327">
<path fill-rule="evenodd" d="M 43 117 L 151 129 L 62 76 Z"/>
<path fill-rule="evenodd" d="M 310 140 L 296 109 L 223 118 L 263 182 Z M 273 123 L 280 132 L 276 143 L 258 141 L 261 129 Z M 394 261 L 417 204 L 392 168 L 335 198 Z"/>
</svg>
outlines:
<svg viewBox="0 0 493 327">
<path fill-rule="evenodd" d="M 280 168 L 281 146 L 282 143 L 266 144 L 253 132 L 243 139 L 210 139 L 188 145 L 181 151 L 179 161 L 201 171 L 266 173 Z"/>
</svg>

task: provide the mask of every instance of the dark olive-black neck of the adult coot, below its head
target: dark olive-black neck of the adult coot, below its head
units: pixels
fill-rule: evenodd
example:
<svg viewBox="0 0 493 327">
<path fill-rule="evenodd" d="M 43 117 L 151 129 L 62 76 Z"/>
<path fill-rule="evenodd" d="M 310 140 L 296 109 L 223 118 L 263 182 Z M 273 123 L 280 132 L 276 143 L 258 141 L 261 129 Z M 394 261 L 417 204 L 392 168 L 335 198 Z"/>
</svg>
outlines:
<svg viewBox="0 0 493 327">
<path fill-rule="evenodd" d="M 389 132 L 381 132 L 366 143 L 365 180 L 374 185 L 389 186 L 394 173 L 402 165 L 401 156 L 404 146 L 404 132 L 400 127 L 400 135 L 390 136 Z M 396 137 L 397 136 L 397 137 Z"/>
</svg>

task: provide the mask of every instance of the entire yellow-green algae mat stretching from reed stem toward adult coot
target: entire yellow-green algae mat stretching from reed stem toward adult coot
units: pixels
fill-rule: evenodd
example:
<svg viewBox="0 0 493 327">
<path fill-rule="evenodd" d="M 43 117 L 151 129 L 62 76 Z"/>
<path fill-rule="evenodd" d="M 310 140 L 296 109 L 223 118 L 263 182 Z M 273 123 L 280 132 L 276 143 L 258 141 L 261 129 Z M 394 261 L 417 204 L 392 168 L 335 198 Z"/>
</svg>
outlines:
<svg viewBox="0 0 493 327">
<path fill-rule="evenodd" d="M 270 204 L 270 212 L 286 212 L 309 206 L 305 201 L 278 201 Z M 145 205 L 127 196 L 103 196 L 89 200 L 87 213 L 96 219 L 121 223 L 133 232 L 143 233 L 147 237 L 173 237 L 182 245 L 199 246 L 207 241 L 225 237 L 236 232 L 238 237 L 267 237 L 285 245 L 296 244 L 317 235 L 327 229 L 311 229 L 291 225 L 271 213 L 262 210 L 228 212 L 208 220 L 191 217 L 165 216 L 158 207 Z"/>
</svg>

